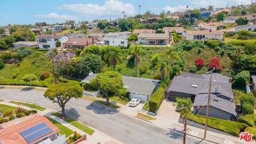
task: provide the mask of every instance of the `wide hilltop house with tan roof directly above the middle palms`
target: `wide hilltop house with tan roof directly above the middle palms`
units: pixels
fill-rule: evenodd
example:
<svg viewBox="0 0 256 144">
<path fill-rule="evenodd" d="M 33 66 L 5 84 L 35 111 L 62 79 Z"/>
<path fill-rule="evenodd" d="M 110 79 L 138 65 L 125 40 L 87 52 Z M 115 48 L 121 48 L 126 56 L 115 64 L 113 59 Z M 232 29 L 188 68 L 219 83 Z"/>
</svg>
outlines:
<svg viewBox="0 0 256 144">
<path fill-rule="evenodd" d="M 169 45 L 169 34 L 139 34 L 136 44 L 145 45 Z"/>
</svg>

